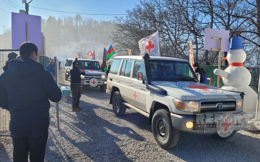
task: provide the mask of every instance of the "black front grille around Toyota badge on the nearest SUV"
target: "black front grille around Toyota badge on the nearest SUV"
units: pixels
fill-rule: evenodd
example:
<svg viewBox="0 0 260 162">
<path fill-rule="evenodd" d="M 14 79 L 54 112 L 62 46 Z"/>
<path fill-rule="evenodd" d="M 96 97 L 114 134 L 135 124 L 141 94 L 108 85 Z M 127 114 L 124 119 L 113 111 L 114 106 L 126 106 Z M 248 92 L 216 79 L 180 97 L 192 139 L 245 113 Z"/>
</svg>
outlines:
<svg viewBox="0 0 260 162">
<path fill-rule="evenodd" d="M 216 109 L 216 104 L 222 103 L 223 108 L 218 110 Z M 202 101 L 200 102 L 200 112 L 224 112 L 224 111 L 236 111 L 236 101 L 228 100 L 228 101 Z"/>
</svg>

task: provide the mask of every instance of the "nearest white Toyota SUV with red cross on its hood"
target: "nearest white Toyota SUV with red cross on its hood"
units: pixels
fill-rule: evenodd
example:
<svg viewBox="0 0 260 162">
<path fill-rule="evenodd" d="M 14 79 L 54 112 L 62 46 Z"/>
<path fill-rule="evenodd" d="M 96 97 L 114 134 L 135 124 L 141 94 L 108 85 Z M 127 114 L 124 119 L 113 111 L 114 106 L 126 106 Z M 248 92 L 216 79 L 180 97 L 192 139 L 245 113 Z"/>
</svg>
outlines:
<svg viewBox="0 0 260 162">
<path fill-rule="evenodd" d="M 114 57 L 106 93 L 117 116 L 127 107 L 147 116 L 163 148 L 174 147 L 180 131 L 228 139 L 248 119 L 243 93 L 199 83 L 189 62 L 177 58 Z"/>
</svg>

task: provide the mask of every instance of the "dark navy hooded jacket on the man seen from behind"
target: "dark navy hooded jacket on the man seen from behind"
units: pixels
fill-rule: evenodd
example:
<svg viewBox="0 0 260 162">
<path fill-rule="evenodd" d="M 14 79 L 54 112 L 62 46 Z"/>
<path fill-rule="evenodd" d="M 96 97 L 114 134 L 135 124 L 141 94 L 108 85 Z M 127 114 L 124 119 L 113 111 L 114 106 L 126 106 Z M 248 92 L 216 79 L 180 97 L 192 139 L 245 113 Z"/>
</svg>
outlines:
<svg viewBox="0 0 260 162">
<path fill-rule="evenodd" d="M 49 127 L 50 102 L 61 90 L 50 72 L 30 58 L 9 62 L 0 76 L 0 107 L 10 112 L 10 131 L 39 131 Z"/>
</svg>

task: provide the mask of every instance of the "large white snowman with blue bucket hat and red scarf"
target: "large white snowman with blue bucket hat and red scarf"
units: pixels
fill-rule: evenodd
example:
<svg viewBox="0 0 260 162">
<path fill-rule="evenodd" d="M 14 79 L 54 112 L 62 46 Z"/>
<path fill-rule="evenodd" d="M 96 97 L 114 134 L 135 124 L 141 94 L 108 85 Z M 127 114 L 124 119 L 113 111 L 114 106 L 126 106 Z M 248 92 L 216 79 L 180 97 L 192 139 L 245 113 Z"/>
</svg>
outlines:
<svg viewBox="0 0 260 162">
<path fill-rule="evenodd" d="M 243 111 L 255 116 L 257 93 L 248 85 L 251 81 L 251 74 L 244 67 L 243 62 L 246 60 L 246 53 L 243 50 L 242 38 L 231 38 L 230 48 L 222 60 L 228 60 L 229 66 L 224 70 L 215 69 L 214 74 L 222 76 L 225 90 L 244 92 Z"/>
</svg>

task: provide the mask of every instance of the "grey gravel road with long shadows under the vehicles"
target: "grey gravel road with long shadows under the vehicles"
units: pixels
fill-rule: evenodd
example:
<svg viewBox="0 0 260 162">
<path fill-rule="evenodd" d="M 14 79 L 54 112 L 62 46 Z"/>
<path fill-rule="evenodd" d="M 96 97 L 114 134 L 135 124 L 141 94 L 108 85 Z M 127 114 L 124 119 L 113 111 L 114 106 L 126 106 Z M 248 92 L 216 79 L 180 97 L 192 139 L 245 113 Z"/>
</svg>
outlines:
<svg viewBox="0 0 260 162">
<path fill-rule="evenodd" d="M 68 86 L 69 81 L 63 78 L 64 72 L 60 72 L 60 86 Z M 99 88 L 83 87 L 80 112 L 71 112 L 71 96 L 62 98 L 60 131 L 55 103 L 51 102 L 45 161 L 260 161 L 260 131 L 239 131 L 226 141 L 181 132 L 175 148 L 162 149 L 153 138 L 148 118 L 132 109 L 117 117 L 109 97 Z M 0 137 L 0 161 L 12 159 L 12 139 Z"/>
</svg>

